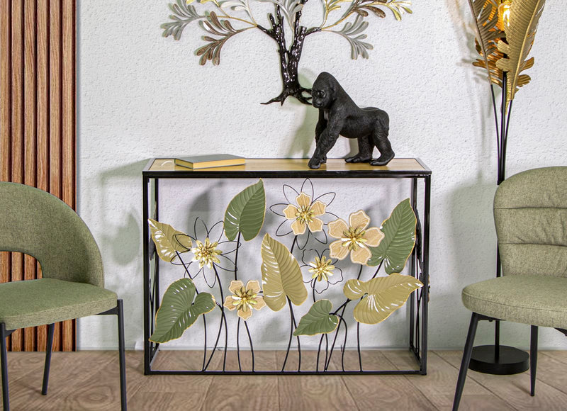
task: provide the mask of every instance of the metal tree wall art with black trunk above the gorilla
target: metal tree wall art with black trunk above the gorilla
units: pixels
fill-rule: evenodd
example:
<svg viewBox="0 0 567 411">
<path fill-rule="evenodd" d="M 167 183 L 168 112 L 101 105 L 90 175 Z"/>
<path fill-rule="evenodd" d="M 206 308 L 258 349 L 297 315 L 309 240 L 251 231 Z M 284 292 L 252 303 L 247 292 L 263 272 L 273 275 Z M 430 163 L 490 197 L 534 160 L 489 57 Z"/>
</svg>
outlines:
<svg viewBox="0 0 567 411">
<path fill-rule="evenodd" d="M 411 1 L 407 0 L 318 0 L 322 6 L 322 20 L 319 26 L 307 27 L 301 24 L 301 13 L 308 0 L 254 0 L 274 4 L 274 12 L 268 14 L 268 24 L 259 24 L 250 6 L 250 0 L 197 0 L 200 4 L 208 3 L 211 7 L 199 13 L 191 5 L 193 0 L 176 0 L 169 4 L 173 14 L 169 23 L 162 24 L 164 37 L 173 35 L 181 38 L 184 28 L 193 21 L 198 21 L 207 35 L 203 36 L 206 45 L 199 47 L 196 54 L 201 56 L 200 64 L 207 61 L 220 64 L 220 50 L 232 36 L 247 30 L 257 29 L 269 35 L 278 47 L 281 80 L 281 94 L 264 104 L 283 101 L 293 96 L 309 104 L 310 89 L 299 84 L 298 66 L 303 50 L 303 43 L 308 35 L 318 32 L 332 32 L 342 35 L 351 46 L 351 57 L 368 58 L 372 45 L 365 43 L 364 30 L 369 25 L 369 14 L 386 17 L 391 11 L 396 20 L 401 20 L 403 13 L 411 13 Z M 385 11 L 386 10 L 386 11 Z M 235 26 L 232 26 L 232 25 Z M 288 33 L 289 31 L 289 33 Z"/>
</svg>

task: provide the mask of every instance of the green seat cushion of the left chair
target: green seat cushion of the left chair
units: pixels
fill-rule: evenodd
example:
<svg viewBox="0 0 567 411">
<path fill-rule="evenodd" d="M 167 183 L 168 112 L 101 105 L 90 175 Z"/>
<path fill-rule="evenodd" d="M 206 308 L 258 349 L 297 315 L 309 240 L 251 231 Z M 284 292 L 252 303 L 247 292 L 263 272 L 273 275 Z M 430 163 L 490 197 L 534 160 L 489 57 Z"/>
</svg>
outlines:
<svg viewBox="0 0 567 411">
<path fill-rule="evenodd" d="M 6 330 L 96 315 L 116 307 L 116 293 L 54 278 L 0 284 L 0 322 Z"/>
</svg>

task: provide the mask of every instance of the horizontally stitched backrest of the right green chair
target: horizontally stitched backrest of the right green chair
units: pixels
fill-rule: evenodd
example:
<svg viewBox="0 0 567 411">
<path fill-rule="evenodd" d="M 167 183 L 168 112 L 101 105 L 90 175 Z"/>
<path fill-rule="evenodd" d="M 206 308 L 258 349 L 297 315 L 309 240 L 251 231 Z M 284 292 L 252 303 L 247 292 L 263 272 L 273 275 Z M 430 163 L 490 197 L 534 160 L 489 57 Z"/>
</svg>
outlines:
<svg viewBox="0 0 567 411">
<path fill-rule="evenodd" d="M 567 277 L 567 167 L 503 181 L 494 220 L 504 275 Z"/>
</svg>

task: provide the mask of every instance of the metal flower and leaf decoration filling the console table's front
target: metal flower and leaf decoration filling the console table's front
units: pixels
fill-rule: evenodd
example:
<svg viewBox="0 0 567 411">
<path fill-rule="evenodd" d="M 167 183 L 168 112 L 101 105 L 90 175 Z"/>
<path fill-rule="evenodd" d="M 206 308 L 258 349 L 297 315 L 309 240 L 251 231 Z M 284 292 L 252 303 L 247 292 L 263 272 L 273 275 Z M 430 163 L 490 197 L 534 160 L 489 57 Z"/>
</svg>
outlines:
<svg viewBox="0 0 567 411">
<path fill-rule="evenodd" d="M 240 330 L 243 322 L 252 356 L 252 370 L 245 371 L 254 371 L 253 333 L 249 322 L 253 322 L 257 317 L 254 313 L 263 308 L 267 307 L 264 313 L 288 308 L 290 330 L 286 355 L 278 364 L 278 371 L 274 372 L 286 370 L 294 337 L 299 355 L 297 371 L 301 371 L 301 337 L 314 336 L 318 338 L 318 351 L 313 368 L 317 372 L 327 371 L 332 354 L 340 344 L 340 364 L 344 371 L 348 327 L 353 322 L 357 325 L 358 364 L 355 366 L 364 371 L 360 350 L 361 324 L 383 322 L 423 286 L 414 276 L 400 274 L 416 241 L 417 218 L 410 200 L 399 203 L 390 217 L 376 227 L 364 210 L 357 210 L 344 220 L 330 213 L 328 208 L 335 193 L 315 197 L 309 179 L 303 181 L 299 189 L 285 184 L 283 197 L 285 203 L 269 208 L 283 218 L 275 233 L 279 240 L 265 233 L 258 250 L 261 266 L 248 265 L 243 270 L 239 269 L 238 260 L 242 240 L 253 240 L 264 225 L 266 193 L 262 180 L 248 186 L 230 201 L 223 221 L 208 227 L 196 218 L 192 235 L 150 219 L 157 256 L 182 266 L 184 270 L 184 276 L 174 281 L 163 295 L 150 341 L 165 343 L 177 339 L 201 317 L 204 328 L 201 371 L 205 373 L 210 369 L 213 356 L 222 346 L 222 370 L 226 371 L 229 330 L 234 330 L 228 323 L 236 321 L 236 332 L 231 341 L 236 342 L 238 371 L 242 371 Z M 291 243 L 289 248 L 283 244 L 286 238 Z M 330 238 L 332 242 L 327 245 Z M 186 254 L 192 257 L 186 257 Z M 349 270 L 349 266 L 354 269 Z M 386 275 L 378 276 L 382 267 Z M 203 276 L 210 293 L 197 289 L 193 280 L 198 276 Z M 335 305 L 330 298 L 320 298 L 320 295 L 335 295 L 336 298 L 336 293 L 327 294 L 327 290 L 336 288 L 342 288 L 344 299 L 335 301 Z M 219 295 L 220 300 L 216 300 L 213 293 Z M 422 295 L 418 294 L 418 305 Z M 294 307 L 307 302 L 310 304 L 307 313 L 301 318 L 296 317 Z M 345 315 L 351 302 L 354 303 L 352 319 Z M 220 311 L 218 330 L 213 334 L 214 345 L 210 340 L 208 345 L 206 318 L 216 309 Z M 417 316 L 419 319 L 419 310 Z M 341 327 L 344 340 L 337 344 Z M 224 334 L 224 344 L 219 346 L 221 334 Z M 210 345 L 213 345 L 212 349 Z"/>
</svg>

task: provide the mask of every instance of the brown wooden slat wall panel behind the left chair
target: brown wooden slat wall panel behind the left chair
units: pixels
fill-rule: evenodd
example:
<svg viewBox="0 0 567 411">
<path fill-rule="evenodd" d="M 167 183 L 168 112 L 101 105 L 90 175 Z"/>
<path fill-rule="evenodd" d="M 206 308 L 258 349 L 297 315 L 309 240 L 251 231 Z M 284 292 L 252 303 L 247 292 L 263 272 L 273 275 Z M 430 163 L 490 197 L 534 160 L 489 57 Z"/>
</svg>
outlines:
<svg viewBox="0 0 567 411">
<path fill-rule="evenodd" d="M 49 191 L 76 207 L 75 0 L 0 0 L 0 181 Z M 0 283 L 41 278 L 37 261 L 0 252 Z M 75 322 L 54 350 L 74 351 Z M 45 350 L 46 327 L 18 330 L 12 351 Z"/>
</svg>

